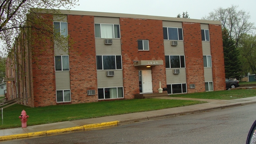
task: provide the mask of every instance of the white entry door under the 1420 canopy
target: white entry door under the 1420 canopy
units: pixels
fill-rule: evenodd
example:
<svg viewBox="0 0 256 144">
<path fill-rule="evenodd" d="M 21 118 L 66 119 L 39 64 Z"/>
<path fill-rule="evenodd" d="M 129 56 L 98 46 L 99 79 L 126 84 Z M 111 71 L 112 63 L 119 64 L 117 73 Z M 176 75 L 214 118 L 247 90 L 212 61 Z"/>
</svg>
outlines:
<svg viewBox="0 0 256 144">
<path fill-rule="evenodd" d="M 151 70 L 142 70 L 142 88 L 143 93 L 153 92 Z"/>
</svg>

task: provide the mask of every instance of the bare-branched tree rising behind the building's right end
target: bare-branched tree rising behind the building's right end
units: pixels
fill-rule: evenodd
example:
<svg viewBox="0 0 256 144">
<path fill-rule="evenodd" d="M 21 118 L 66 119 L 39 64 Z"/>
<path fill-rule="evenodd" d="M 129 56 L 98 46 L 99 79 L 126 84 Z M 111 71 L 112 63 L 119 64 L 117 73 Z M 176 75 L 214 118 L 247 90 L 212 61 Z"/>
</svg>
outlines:
<svg viewBox="0 0 256 144">
<path fill-rule="evenodd" d="M 237 9 L 238 6 L 234 5 L 228 8 L 219 7 L 210 12 L 208 16 L 202 17 L 205 20 L 220 21 L 222 28 L 226 29 L 229 36 L 235 40 L 236 47 L 238 47 L 238 43 L 244 34 L 255 30 L 254 23 L 249 22 L 251 18 L 250 13 Z"/>
</svg>

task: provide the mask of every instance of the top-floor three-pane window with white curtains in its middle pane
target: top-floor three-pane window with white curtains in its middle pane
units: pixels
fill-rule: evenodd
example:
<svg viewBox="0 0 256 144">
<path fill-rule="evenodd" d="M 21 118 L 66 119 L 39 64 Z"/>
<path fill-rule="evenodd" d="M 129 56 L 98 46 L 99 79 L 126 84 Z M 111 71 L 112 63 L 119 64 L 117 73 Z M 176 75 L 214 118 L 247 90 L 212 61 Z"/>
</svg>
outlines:
<svg viewBox="0 0 256 144">
<path fill-rule="evenodd" d="M 94 24 L 95 38 L 120 38 L 120 28 L 117 24 Z"/>
</svg>

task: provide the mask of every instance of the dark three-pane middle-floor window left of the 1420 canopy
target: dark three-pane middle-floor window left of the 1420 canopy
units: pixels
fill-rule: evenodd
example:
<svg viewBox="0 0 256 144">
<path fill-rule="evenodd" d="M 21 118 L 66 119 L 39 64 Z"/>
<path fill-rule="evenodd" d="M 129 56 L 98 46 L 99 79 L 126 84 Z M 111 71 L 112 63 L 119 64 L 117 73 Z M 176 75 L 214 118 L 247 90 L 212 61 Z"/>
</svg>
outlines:
<svg viewBox="0 0 256 144">
<path fill-rule="evenodd" d="M 96 56 L 97 70 L 122 69 L 121 56 Z"/>
</svg>

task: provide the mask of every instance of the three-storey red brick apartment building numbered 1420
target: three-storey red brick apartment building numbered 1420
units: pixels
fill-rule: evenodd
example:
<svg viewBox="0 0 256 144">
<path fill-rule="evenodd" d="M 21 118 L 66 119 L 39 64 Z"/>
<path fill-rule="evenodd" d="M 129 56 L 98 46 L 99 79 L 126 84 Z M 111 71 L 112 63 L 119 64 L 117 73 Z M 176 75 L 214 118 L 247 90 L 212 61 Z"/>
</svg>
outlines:
<svg viewBox="0 0 256 144">
<path fill-rule="evenodd" d="M 158 93 L 159 81 L 168 94 L 225 90 L 219 21 L 61 13 L 41 15 L 70 36 L 73 49 L 65 52 L 47 40 L 46 48 L 35 43 L 33 51 L 24 52 L 17 43 L 23 59 L 7 60 L 7 75 L 13 79 L 8 99 L 28 97 L 23 104 L 31 107 L 133 99 Z"/>
</svg>

